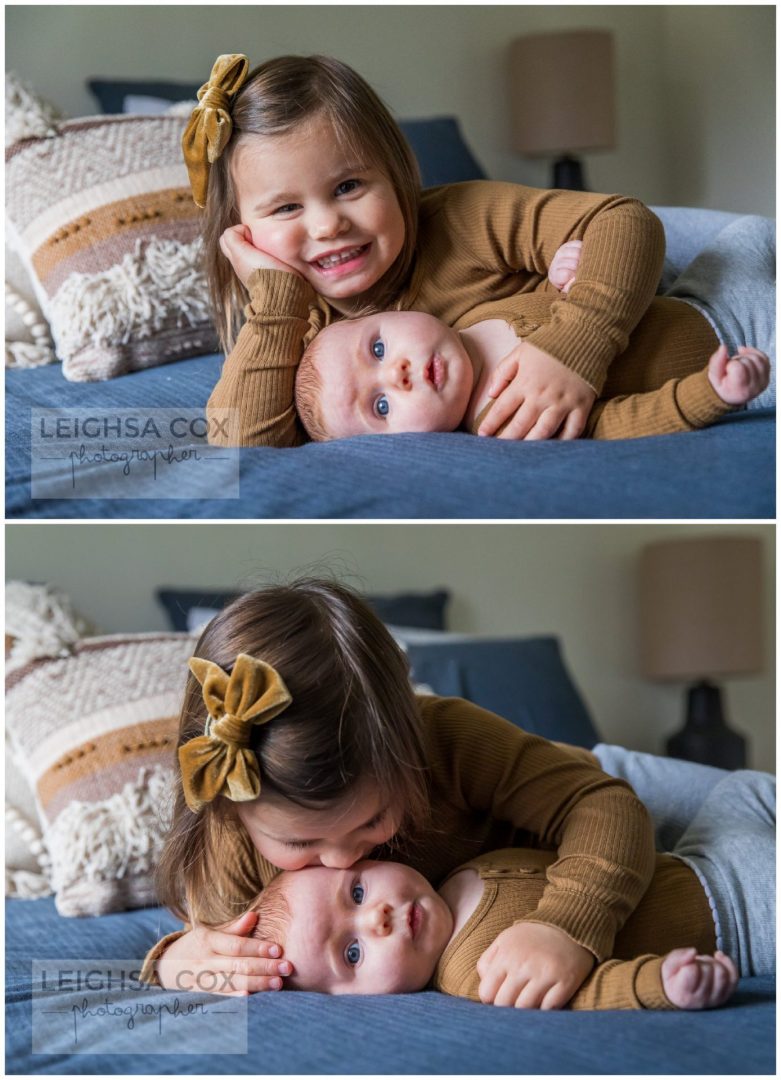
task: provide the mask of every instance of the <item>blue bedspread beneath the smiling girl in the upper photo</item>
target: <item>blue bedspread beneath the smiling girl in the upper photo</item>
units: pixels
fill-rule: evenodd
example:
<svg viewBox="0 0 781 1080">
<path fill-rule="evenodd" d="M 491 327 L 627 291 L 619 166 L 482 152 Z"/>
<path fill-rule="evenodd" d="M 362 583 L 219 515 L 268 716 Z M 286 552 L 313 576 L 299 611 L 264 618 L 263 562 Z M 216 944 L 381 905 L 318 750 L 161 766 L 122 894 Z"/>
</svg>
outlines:
<svg viewBox="0 0 781 1080">
<path fill-rule="evenodd" d="M 703 431 L 618 442 L 510 443 L 462 433 L 362 435 L 241 451 L 230 499 L 43 499 L 30 495 L 31 407 L 202 408 L 220 356 L 108 382 L 59 365 L 6 373 L 6 516 L 183 518 L 773 517 L 773 410 Z"/>
</svg>

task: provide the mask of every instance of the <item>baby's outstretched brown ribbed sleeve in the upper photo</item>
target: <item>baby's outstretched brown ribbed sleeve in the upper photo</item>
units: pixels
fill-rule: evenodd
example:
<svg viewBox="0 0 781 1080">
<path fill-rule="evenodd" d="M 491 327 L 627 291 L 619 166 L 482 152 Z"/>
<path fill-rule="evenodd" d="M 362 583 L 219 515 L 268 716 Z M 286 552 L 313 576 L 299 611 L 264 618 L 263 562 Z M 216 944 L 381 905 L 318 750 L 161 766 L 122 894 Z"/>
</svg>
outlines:
<svg viewBox="0 0 781 1080">
<path fill-rule="evenodd" d="M 685 379 L 671 379 L 659 390 L 597 402 L 583 434 L 590 438 L 639 438 L 705 428 L 733 413 L 718 396 L 703 368 Z"/>
</svg>

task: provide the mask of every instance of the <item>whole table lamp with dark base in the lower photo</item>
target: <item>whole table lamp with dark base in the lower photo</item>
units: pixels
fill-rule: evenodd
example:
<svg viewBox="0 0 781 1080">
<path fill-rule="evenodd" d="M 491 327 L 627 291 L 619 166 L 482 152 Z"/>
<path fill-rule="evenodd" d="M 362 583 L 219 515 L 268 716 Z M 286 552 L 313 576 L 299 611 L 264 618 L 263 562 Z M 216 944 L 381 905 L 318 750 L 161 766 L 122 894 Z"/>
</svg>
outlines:
<svg viewBox="0 0 781 1080">
<path fill-rule="evenodd" d="M 755 537 L 654 543 L 639 563 L 643 673 L 689 683 L 671 757 L 745 767 L 745 739 L 727 726 L 716 679 L 762 671 L 762 545 Z"/>
</svg>

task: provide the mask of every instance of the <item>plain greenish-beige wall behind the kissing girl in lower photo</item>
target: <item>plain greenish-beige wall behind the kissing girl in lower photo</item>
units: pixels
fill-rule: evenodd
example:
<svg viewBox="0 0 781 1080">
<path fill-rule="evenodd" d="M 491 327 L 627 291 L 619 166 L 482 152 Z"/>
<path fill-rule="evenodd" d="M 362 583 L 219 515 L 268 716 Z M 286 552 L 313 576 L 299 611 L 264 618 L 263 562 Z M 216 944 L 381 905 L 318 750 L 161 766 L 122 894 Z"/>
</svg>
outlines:
<svg viewBox="0 0 781 1080">
<path fill-rule="evenodd" d="M 763 539 L 767 670 L 735 679 L 729 716 L 752 764 L 775 768 L 775 528 L 771 525 L 43 525 L 6 528 L 6 577 L 64 589 L 105 632 L 166 625 L 156 585 L 252 588 L 318 561 L 359 589 L 447 586 L 449 629 L 556 634 L 607 741 L 661 751 L 683 688 L 638 673 L 635 569 L 652 540 L 738 532 Z"/>
</svg>

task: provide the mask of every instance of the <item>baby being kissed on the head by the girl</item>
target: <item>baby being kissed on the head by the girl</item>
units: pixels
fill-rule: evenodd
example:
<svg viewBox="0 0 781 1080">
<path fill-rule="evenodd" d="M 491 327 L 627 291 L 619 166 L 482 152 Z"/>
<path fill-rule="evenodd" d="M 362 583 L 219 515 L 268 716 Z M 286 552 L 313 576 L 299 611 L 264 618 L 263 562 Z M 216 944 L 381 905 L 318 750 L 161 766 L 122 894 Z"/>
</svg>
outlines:
<svg viewBox="0 0 781 1080">
<path fill-rule="evenodd" d="M 437 892 L 401 863 L 283 872 L 254 905 L 254 935 L 284 944 L 293 964 L 285 985 L 293 989 L 408 994 L 431 986 L 475 1001 L 534 1005 L 534 988 L 524 986 L 521 972 L 481 986 L 480 959 L 507 927 L 534 921 L 547 867 L 556 859 L 555 852 L 521 848 L 492 852 L 454 870 Z M 702 955 L 714 945 L 713 917 L 696 874 L 660 854 L 651 886 L 616 937 L 616 958 L 596 964 L 569 1008 L 721 1005 L 738 972 L 723 953 Z M 659 951 L 668 955 L 652 955 Z"/>
</svg>

